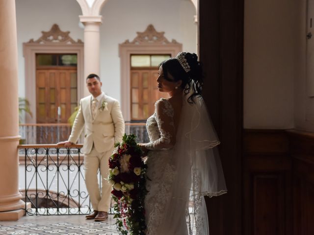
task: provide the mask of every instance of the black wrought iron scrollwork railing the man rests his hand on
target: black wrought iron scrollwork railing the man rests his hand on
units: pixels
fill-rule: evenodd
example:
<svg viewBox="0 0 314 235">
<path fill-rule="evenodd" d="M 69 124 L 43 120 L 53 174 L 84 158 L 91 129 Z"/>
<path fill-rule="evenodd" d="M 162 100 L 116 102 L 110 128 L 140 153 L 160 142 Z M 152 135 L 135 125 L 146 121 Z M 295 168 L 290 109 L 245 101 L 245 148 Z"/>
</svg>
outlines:
<svg viewBox="0 0 314 235">
<path fill-rule="evenodd" d="M 81 144 L 71 148 L 19 145 L 20 188 L 24 201 L 31 204 L 26 211 L 36 215 L 90 213 L 81 148 Z"/>
</svg>

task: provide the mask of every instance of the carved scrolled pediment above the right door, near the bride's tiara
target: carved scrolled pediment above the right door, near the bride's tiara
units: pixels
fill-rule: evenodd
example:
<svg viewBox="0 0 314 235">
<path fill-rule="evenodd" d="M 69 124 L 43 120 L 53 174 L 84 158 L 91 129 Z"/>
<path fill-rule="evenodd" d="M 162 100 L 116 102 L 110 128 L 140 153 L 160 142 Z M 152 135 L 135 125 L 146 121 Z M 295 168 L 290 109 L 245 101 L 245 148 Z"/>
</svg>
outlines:
<svg viewBox="0 0 314 235">
<path fill-rule="evenodd" d="M 147 26 L 146 30 L 144 32 L 136 32 L 137 37 L 133 39 L 132 42 L 129 40 L 126 40 L 123 44 L 179 44 L 176 40 L 172 40 L 171 42 L 168 41 L 168 39 L 165 38 L 164 33 L 165 32 L 157 32 L 153 24 L 150 24 Z"/>
</svg>

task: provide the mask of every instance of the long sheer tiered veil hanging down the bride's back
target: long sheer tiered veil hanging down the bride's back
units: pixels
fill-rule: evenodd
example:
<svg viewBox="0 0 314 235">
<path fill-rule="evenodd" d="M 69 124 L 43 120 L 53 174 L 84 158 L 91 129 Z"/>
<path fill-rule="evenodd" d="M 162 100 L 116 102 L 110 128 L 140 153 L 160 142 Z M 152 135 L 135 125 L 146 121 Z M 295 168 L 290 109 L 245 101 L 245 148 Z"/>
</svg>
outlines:
<svg viewBox="0 0 314 235">
<path fill-rule="evenodd" d="M 194 85 L 194 84 L 192 84 Z M 192 88 L 190 89 L 190 94 Z M 173 152 L 175 178 L 172 199 L 165 211 L 165 235 L 208 235 L 209 223 L 204 196 L 227 192 L 217 145 L 220 143 L 202 97 L 183 94 L 180 125 Z"/>
</svg>

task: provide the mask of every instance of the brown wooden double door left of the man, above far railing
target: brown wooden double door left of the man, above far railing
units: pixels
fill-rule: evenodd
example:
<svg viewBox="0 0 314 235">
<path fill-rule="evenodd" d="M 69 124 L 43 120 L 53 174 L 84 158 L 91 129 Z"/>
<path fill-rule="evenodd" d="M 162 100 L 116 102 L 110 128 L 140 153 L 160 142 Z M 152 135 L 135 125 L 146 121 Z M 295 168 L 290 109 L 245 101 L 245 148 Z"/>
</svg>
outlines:
<svg viewBox="0 0 314 235">
<path fill-rule="evenodd" d="M 76 106 L 76 68 L 36 71 L 37 123 L 66 123 Z"/>
</svg>

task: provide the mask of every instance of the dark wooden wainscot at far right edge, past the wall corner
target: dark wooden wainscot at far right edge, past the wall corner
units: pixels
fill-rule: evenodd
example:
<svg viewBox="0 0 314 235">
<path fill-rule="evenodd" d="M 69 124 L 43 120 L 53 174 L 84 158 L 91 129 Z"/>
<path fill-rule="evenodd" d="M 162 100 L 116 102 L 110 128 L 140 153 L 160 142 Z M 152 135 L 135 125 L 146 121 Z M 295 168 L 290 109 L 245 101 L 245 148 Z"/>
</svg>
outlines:
<svg viewBox="0 0 314 235">
<path fill-rule="evenodd" d="M 314 234 L 314 133 L 289 130 L 293 159 L 293 233 Z"/>
</svg>

